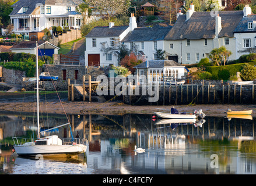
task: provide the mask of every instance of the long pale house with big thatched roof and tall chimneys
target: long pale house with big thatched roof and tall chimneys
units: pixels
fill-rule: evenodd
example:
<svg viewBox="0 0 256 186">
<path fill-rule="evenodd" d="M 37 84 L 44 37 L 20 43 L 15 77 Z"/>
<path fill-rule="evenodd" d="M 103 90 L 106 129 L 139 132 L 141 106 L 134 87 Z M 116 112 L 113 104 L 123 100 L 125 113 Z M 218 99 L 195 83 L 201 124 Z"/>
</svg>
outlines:
<svg viewBox="0 0 256 186">
<path fill-rule="evenodd" d="M 169 59 L 182 64 L 199 62 L 209 57 L 213 48 L 225 46 L 236 59 L 234 29 L 243 18 L 243 11 L 195 12 L 194 5 L 185 15 L 178 15 L 173 28 L 164 38 Z"/>
</svg>

